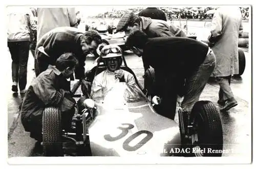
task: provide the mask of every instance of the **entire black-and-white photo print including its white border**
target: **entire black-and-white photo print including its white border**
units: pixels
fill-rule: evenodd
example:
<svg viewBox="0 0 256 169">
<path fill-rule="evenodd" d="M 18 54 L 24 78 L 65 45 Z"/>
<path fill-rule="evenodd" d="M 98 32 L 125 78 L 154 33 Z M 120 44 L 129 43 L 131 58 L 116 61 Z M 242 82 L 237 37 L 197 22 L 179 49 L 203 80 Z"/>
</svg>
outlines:
<svg viewBox="0 0 256 169">
<path fill-rule="evenodd" d="M 8 163 L 251 163 L 251 13 L 6 6 Z"/>
</svg>

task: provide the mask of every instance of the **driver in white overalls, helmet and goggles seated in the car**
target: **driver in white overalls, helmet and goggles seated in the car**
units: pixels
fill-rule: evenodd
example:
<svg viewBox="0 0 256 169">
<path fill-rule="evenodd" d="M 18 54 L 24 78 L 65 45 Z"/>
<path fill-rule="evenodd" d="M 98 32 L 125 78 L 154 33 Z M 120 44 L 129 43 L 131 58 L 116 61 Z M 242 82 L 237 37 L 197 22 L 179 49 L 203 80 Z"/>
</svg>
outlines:
<svg viewBox="0 0 256 169">
<path fill-rule="evenodd" d="M 117 45 L 106 45 L 101 50 L 102 60 L 107 69 L 95 76 L 91 97 L 104 97 L 105 94 L 117 82 L 127 82 L 129 85 L 135 85 L 134 76 L 125 70 L 120 69 L 122 65 L 122 49 Z"/>
</svg>

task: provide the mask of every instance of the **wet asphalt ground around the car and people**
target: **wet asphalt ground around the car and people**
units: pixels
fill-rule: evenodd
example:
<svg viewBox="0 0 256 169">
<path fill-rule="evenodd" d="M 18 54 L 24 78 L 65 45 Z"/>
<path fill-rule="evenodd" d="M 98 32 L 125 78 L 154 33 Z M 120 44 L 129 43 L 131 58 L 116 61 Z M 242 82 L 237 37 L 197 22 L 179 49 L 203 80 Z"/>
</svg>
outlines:
<svg viewBox="0 0 256 169">
<path fill-rule="evenodd" d="M 8 50 L 8 49 L 7 49 Z M 28 157 L 42 156 L 41 148 L 33 138 L 30 138 L 20 121 L 18 106 L 20 104 L 20 94 L 11 91 L 11 57 L 8 51 L 6 83 L 7 88 L 5 99 L 7 101 L 8 114 L 8 157 Z M 238 106 L 231 108 L 227 112 L 221 112 L 220 117 L 223 124 L 223 149 L 226 153 L 223 156 L 241 157 L 243 159 L 251 159 L 252 149 L 252 112 L 251 112 L 251 55 L 245 52 L 246 68 L 244 74 L 240 78 L 232 78 L 231 88 Z M 135 72 L 138 80 L 143 85 L 143 64 L 141 58 L 137 57 L 130 51 L 125 52 L 127 65 Z M 92 68 L 94 58 L 88 58 L 86 61 L 86 69 Z M 28 61 L 28 83 L 27 88 L 34 78 L 33 69 L 34 59 L 32 54 L 29 55 Z M 217 107 L 219 86 L 216 81 L 211 80 L 207 83 L 200 100 L 210 100 Z M 176 121 L 178 120 L 176 115 Z"/>
</svg>

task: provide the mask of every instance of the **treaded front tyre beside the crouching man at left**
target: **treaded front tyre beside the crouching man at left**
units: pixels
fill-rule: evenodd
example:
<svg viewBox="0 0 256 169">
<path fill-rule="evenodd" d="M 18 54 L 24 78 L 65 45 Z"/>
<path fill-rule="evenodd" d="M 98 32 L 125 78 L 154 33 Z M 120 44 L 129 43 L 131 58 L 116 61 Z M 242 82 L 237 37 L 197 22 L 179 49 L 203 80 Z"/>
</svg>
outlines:
<svg viewBox="0 0 256 169">
<path fill-rule="evenodd" d="M 42 114 L 42 148 L 44 156 L 63 156 L 61 115 L 56 107 L 45 108 Z"/>
</svg>

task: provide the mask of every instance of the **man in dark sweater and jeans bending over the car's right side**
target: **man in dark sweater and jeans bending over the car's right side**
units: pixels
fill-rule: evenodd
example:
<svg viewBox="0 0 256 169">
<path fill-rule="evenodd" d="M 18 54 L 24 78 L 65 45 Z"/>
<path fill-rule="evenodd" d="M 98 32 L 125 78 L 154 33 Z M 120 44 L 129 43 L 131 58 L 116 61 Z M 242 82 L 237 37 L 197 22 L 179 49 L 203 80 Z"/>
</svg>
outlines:
<svg viewBox="0 0 256 169">
<path fill-rule="evenodd" d="M 177 94 L 184 79 L 189 81 L 181 104 L 189 115 L 215 68 L 215 55 L 208 45 L 190 38 L 148 38 L 140 30 L 131 32 L 126 45 L 139 57 L 143 54 L 144 59 L 155 69 L 154 94 L 162 99 L 158 112 L 163 116 L 174 119 Z"/>
</svg>

